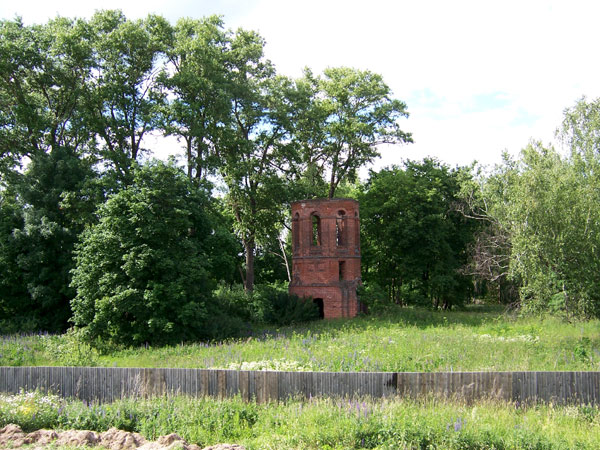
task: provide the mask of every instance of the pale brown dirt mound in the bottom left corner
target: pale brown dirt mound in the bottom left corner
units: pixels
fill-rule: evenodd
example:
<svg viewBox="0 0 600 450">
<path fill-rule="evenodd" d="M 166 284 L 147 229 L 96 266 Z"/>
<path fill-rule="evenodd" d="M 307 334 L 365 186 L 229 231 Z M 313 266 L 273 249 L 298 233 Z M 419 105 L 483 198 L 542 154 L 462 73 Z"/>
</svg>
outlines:
<svg viewBox="0 0 600 450">
<path fill-rule="evenodd" d="M 95 431 L 53 431 L 37 430 L 24 433 L 17 425 L 7 425 L 0 429 L 0 449 L 14 449 L 23 445 L 31 445 L 33 449 L 42 449 L 48 444 L 54 446 L 96 446 L 101 445 L 109 450 L 201 450 L 195 444 L 188 444 L 175 433 L 161 436 L 155 442 L 146 441 L 141 434 L 111 428 L 103 433 Z M 245 450 L 241 445 L 218 444 L 204 450 Z"/>
</svg>

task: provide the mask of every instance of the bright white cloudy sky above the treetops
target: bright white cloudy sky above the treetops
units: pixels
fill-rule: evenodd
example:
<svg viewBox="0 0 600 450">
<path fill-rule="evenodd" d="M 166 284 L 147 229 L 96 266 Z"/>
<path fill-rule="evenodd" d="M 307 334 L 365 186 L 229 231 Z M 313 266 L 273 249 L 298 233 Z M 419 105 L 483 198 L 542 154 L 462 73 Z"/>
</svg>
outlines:
<svg viewBox="0 0 600 450">
<path fill-rule="evenodd" d="M 374 169 L 425 157 L 493 165 L 531 140 L 560 148 L 564 110 L 600 96 L 600 2 L 589 0 L 5 0 L 0 18 L 45 23 L 111 8 L 173 23 L 222 15 L 227 28 L 258 31 L 267 58 L 292 77 L 304 67 L 381 74 L 406 102 L 401 126 L 415 142 L 381 148 Z"/>
</svg>

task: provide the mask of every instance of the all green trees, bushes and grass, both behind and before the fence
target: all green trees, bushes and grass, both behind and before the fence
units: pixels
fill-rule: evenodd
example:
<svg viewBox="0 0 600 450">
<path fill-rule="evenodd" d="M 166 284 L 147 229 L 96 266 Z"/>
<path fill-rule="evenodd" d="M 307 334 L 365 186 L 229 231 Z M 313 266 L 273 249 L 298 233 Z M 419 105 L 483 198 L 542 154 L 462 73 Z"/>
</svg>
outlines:
<svg viewBox="0 0 600 450">
<path fill-rule="evenodd" d="M 0 21 L 0 365 L 600 370 L 600 100 L 565 111 L 564 154 L 361 183 L 380 144 L 412 141 L 407 106 L 368 70 L 279 75 L 264 46 L 218 16 Z M 150 133 L 177 137 L 184 166 L 146 158 Z M 286 290 L 289 204 L 334 195 L 361 202 L 372 314 L 310 322 Z M 598 408 L 432 399 L 23 393 L 0 422 L 248 448 L 600 447 Z"/>
</svg>

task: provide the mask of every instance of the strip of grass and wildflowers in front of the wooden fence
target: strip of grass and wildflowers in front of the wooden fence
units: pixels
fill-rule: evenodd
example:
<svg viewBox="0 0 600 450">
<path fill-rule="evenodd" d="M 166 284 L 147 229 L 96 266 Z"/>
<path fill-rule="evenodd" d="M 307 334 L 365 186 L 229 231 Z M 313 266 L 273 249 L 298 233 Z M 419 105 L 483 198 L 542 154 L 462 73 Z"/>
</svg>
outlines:
<svg viewBox="0 0 600 450">
<path fill-rule="evenodd" d="M 596 449 L 597 407 L 520 408 L 513 404 L 389 399 L 290 400 L 158 397 L 85 404 L 40 393 L 0 397 L 0 426 L 136 431 L 147 439 L 177 433 L 201 446 L 250 449 Z"/>
</svg>

